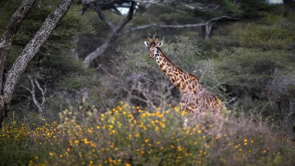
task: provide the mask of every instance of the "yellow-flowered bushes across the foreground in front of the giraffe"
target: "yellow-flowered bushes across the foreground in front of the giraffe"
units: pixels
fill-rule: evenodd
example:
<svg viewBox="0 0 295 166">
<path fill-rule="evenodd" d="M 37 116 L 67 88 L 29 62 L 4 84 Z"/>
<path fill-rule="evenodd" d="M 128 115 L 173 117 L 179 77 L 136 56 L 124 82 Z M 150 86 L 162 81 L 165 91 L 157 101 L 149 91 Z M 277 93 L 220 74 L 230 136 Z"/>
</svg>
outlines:
<svg viewBox="0 0 295 166">
<path fill-rule="evenodd" d="M 35 129 L 5 127 L 0 141 L 29 139 L 46 154 L 33 165 L 79 166 L 207 166 L 292 165 L 295 146 L 249 119 L 191 116 L 177 107 L 148 110 L 121 103 L 99 114 L 84 103 L 59 114 L 60 122 Z M 189 123 L 183 125 L 184 119 Z M 40 149 L 39 149 L 40 150 Z M 287 163 L 284 163 L 287 162 Z M 23 164 L 28 164 L 23 163 Z"/>
</svg>

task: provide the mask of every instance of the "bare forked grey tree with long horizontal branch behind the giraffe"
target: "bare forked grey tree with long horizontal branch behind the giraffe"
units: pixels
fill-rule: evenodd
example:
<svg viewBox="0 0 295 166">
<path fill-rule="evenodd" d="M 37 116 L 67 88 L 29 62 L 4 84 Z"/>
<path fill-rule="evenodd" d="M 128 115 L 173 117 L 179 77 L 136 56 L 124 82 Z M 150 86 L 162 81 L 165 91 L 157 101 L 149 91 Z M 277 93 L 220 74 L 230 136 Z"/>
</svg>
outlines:
<svg viewBox="0 0 295 166">
<path fill-rule="evenodd" d="M 97 13 L 99 18 L 108 26 L 109 33 L 107 39 L 105 39 L 105 42 L 100 45 L 98 48 L 96 48 L 94 51 L 92 51 L 89 55 L 86 56 L 86 58 L 83 60 L 83 62 L 86 64 L 86 66 L 89 66 L 91 63 L 93 63 L 97 58 L 99 58 L 102 54 L 104 54 L 111 46 L 111 44 L 118 39 L 120 36 L 132 33 L 139 30 L 144 30 L 152 27 L 158 27 L 158 28 L 174 28 L 174 29 L 183 29 L 183 28 L 189 28 L 189 27 L 205 27 L 207 38 L 209 34 L 211 33 L 212 23 L 218 20 L 222 19 L 234 19 L 228 15 L 219 15 L 214 18 L 210 18 L 207 21 L 203 23 L 196 23 L 196 24 L 186 24 L 186 25 L 161 25 L 157 23 L 153 24 L 147 24 L 142 26 L 133 27 L 130 29 L 124 29 L 126 24 L 130 22 L 133 18 L 133 15 L 135 14 L 136 5 L 139 3 L 146 3 L 148 5 L 159 5 L 159 6 L 167 6 L 171 10 L 176 12 L 194 12 L 194 11 L 210 11 L 215 12 L 217 11 L 218 7 L 220 7 L 220 4 L 222 2 L 215 1 L 215 0 L 81 0 L 82 3 L 85 5 L 85 7 L 82 10 L 82 14 L 90 8 L 93 11 Z M 196 4 L 196 2 L 198 2 Z M 191 5 L 193 4 L 193 5 Z M 123 6 L 127 7 L 128 14 L 125 16 L 125 18 L 119 22 L 117 25 L 114 24 L 104 13 L 104 9 L 113 9 L 117 10 L 117 7 Z M 185 10 L 177 9 L 177 7 L 185 8 Z"/>
</svg>

